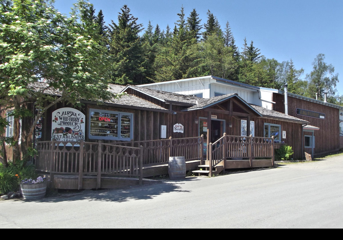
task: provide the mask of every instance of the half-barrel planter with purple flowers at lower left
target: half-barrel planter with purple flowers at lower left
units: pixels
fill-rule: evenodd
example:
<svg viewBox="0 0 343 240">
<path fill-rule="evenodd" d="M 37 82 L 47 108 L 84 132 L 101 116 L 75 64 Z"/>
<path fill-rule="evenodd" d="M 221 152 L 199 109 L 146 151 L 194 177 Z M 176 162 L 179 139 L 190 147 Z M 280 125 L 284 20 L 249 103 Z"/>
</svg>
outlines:
<svg viewBox="0 0 343 240">
<path fill-rule="evenodd" d="M 38 177 L 37 180 L 25 179 L 20 183 L 20 190 L 24 199 L 40 199 L 45 196 L 47 181 Z"/>
</svg>

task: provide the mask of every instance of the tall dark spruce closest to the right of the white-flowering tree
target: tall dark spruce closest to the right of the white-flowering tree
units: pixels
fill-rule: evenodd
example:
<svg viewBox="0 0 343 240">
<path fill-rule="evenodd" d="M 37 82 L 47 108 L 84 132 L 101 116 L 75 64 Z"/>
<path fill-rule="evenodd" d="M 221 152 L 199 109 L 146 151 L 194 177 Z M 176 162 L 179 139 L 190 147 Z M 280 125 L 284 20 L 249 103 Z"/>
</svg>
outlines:
<svg viewBox="0 0 343 240">
<path fill-rule="evenodd" d="M 113 20 L 109 25 L 109 48 L 113 56 L 114 83 L 141 84 L 144 77 L 144 56 L 139 33 L 143 30 L 137 17 L 132 16 L 130 9 L 124 5 L 118 14 L 118 24 Z M 125 75 L 125 77 L 123 77 Z"/>
</svg>

